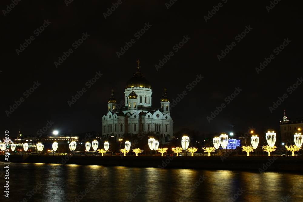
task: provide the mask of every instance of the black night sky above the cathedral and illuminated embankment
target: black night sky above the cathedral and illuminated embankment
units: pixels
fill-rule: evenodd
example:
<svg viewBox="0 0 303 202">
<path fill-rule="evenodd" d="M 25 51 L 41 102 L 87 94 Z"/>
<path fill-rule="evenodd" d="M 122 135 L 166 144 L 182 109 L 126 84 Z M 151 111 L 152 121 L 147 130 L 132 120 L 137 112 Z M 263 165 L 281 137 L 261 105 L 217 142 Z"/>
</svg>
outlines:
<svg viewBox="0 0 303 202">
<path fill-rule="evenodd" d="M 302 77 L 298 2 L 277 1 L 269 12 L 270 1 L 176 1 L 168 9 L 168 0 L 121 2 L 105 19 L 103 13 L 117 1 L 73 1 L 68 6 L 64 1 L 20 1 L 12 9 L 7 8 L 11 1 L 1 1 L 3 135 L 8 130 L 15 136 L 19 129 L 35 135 L 47 121 L 54 123 L 49 131 L 101 132 L 110 90 L 114 89 L 118 103 L 124 100 L 125 84 L 137 70 L 138 59 L 151 83 L 153 107 L 160 107 L 164 87 L 171 103 L 187 92 L 171 110 L 174 132 L 189 127 L 221 133 L 235 125 L 234 131 L 246 132 L 253 126 L 264 133 L 279 127 L 284 110 L 288 118 L 303 117 L 303 85 L 291 94 L 288 89 Z M 219 3 L 221 7 L 216 7 Z M 213 6 L 219 10 L 205 22 Z M 9 12 L 4 14 L 4 9 Z M 135 34 L 145 23 L 151 26 L 138 38 Z M 35 30 L 43 24 L 47 27 L 37 36 Z M 235 38 L 245 29 L 243 38 Z M 89 36 L 75 49 L 73 43 L 82 33 Z M 17 54 L 31 36 L 35 39 Z M 188 41 L 174 48 L 184 36 Z M 132 39 L 135 43 L 118 58 L 117 51 Z M 287 39 L 287 46 L 274 52 Z M 217 55 L 227 46 L 232 49 L 219 61 Z M 56 68 L 54 62 L 70 48 L 73 52 Z M 157 71 L 155 65 L 171 51 L 174 55 Z M 257 73 L 260 62 L 270 55 L 274 58 Z M 103 75 L 88 88 L 85 83 L 96 72 Z M 204 78 L 189 91 L 186 87 L 197 75 Z M 37 81 L 38 88 L 24 94 Z M 70 107 L 68 101 L 82 88 L 87 91 Z M 228 104 L 227 96 L 235 88 L 242 91 Z M 287 98 L 271 113 L 269 107 L 283 94 Z M 20 98 L 24 101 L 7 116 L 5 111 Z M 207 116 L 222 103 L 226 107 L 209 123 Z"/>
</svg>

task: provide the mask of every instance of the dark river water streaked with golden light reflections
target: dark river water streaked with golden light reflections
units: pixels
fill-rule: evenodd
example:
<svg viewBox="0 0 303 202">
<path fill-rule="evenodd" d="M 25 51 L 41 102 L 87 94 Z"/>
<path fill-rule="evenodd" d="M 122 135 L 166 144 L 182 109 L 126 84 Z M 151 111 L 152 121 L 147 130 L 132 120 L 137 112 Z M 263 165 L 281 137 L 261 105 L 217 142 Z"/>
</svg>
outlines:
<svg viewBox="0 0 303 202">
<path fill-rule="evenodd" d="M 248 202 L 280 201 L 287 194 L 288 201 L 303 198 L 303 177 L 295 173 L 31 163 L 11 163 L 9 172 L 10 198 L 2 194 L 0 201 L 75 201 L 80 193 L 85 195 L 80 201 L 228 201 L 235 194 L 236 201 Z M 202 183 L 201 177 L 206 177 Z M 30 194 L 40 181 L 42 188 Z"/>
</svg>

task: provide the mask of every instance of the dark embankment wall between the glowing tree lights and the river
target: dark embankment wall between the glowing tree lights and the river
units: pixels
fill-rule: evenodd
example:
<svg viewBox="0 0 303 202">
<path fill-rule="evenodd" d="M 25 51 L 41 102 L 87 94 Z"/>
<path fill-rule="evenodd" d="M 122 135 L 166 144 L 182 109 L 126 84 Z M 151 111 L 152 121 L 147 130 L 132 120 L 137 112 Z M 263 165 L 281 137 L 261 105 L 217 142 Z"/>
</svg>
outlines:
<svg viewBox="0 0 303 202">
<path fill-rule="evenodd" d="M 4 155 L 1 155 L 4 161 Z M 79 164 L 103 166 L 193 168 L 208 170 L 303 171 L 302 156 L 229 156 L 229 157 L 157 157 L 157 156 L 22 156 L 10 155 L 9 162 Z"/>
</svg>

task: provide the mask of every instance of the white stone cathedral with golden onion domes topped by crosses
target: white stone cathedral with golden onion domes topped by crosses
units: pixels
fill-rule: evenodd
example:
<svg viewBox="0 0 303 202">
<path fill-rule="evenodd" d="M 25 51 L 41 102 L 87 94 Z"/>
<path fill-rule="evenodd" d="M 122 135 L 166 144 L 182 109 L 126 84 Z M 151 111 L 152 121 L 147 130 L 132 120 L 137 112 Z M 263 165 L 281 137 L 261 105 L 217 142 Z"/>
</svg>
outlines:
<svg viewBox="0 0 303 202">
<path fill-rule="evenodd" d="M 161 108 L 152 108 L 151 84 L 139 70 L 140 61 L 137 63 L 138 70 L 125 86 L 125 106 L 117 107 L 112 90 L 107 114 L 102 117 L 102 137 L 118 141 L 126 135 L 138 137 L 140 134 L 148 134 L 160 144 L 168 143 L 173 135 L 173 120 L 166 89 L 160 101 Z"/>
</svg>

